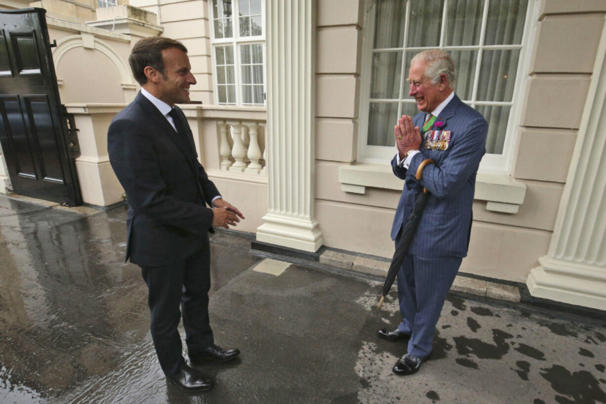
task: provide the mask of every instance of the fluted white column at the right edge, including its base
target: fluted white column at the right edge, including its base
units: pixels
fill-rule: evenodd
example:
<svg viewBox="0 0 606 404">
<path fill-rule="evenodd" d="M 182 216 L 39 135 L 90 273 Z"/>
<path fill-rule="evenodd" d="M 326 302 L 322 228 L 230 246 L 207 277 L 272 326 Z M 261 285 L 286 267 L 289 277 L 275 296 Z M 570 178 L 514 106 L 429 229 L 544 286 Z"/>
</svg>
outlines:
<svg viewBox="0 0 606 404">
<path fill-rule="evenodd" d="M 606 310 L 606 29 L 548 254 L 531 295 Z"/>
</svg>

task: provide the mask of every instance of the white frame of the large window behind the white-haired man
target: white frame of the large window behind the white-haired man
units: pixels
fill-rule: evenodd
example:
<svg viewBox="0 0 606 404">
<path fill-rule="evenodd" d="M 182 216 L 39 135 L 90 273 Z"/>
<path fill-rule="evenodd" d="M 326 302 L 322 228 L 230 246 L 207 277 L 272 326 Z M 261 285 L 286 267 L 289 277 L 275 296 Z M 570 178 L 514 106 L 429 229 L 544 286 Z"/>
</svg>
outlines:
<svg viewBox="0 0 606 404">
<path fill-rule="evenodd" d="M 496 154 L 485 154 L 480 163 L 479 170 L 484 173 L 494 173 L 494 174 L 503 174 L 508 173 L 511 170 L 511 163 L 513 161 L 513 152 L 516 144 L 516 139 L 518 138 L 518 126 L 521 117 L 522 97 L 524 95 L 524 87 L 525 82 L 528 80 L 528 70 L 530 69 L 530 50 L 531 43 L 530 39 L 532 37 L 531 33 L 536 30 L 536 24 L 533 24 L 533 21 L 537 21 L 538 12 L 538 0 L 528 0 L 528 7 L 526 12 L 526 17 L 524 21 L 524 33 L 522 35 L 522 40 L 520 45 L 473 45 L 473 46 L 443 46 L 445 40 L 445 24 L 447 21 L 447 10 L 448 10 L 448 1 L 445 0 L 444 10 L 442 14 L 442 29 L 441 29 L 441 37 L 440 37 L 440 45 L 437 47 L 408 47 L 405 50 L 415 50 L 418 49 L 419 52 L 425 49 L 456 49 L 456 50 L 478 50 L 478 60 L 476 61 L 476 72 L 474 78 L 474 90 L 473 90 L 473 99 L 471 100 L 471 105 L 511 105 L 511 110 L 509 113 L 509 118 L 507 122 L 507 131 L 505 133 L 505 142 L 503 144 L 503 153 L 500 155 Z M 485 0 L 487 3 L 489 0 Z M 409 15 L 410 2 L 407 1 L 407 19 Z M 394 157 L 396 153 L 395 149 L 395 141 L 394 147 L 389 146 L 373 146 L 367 144 L 367 136 L 368 136 L 368 108 L 370 103 L 372 102 L 394 102 L 394 99 L 376 99 L 370 98 L 370 85 L 372 79 L 371 72 L 371 64 L 373 57 L 373 43 L 375 36 L 375 13 L 376 13 L 376 1 L 367 0 L 367 7 L 365 7 L 367 12 L 365 13 L 364 20 L 364 30 L 362 33 L 362 84 L 361 84 L 361 102 L 359 109 L 359 129 L 358 129 L 358 162 L 360 163 L 374 163 L 374 164 L 385 164 L 385 161 L 391 161 L 391 158 Z M 487 4 L 484 6 L 484 11 L 482 15 L 482 27 L 481 27 L 481 37 L 480 43 L 484 42 L 485 35 L 485 24 L 487 21 L 488 15 L 488 7 Z M 408 21 L 406 21 L 406 26 L 408 27 Z M 404 34 L 407 35 L 407 32 Z M 493 102 L 493 101 L 476 101 L 476 88 L 478 86 L 479 73 L 481 66 L 481 58 L 482 58 L 482 50 L 483 49 L 521 49 L 520 57 L 518 61 L 518 71 L 516 73 L 516 83 L 514 86 L 514 92 L 511 96 L 510 102 Z M 381 49 L 378 52 L 385 52 L 393 50 L 393 52 L 401 52 L 403 53 L 403 58 L 405 56 L 404 48 L 393 48 L 393 49 Z M 402 63 L 402 70 L 404 70 L 404 63 Z M 458 73 L 458 72 L 457 72 Z M 408 76 L 408 72 L 401 72 L 402 79 Z M 398 101 L 398 116 L 401 112 L 401 100 L 405 99 L 404 92 L 406 91 L 406 86 L 401 86 Z M 395 124 L 395 123 L 394 123 Z"/>
</svg>

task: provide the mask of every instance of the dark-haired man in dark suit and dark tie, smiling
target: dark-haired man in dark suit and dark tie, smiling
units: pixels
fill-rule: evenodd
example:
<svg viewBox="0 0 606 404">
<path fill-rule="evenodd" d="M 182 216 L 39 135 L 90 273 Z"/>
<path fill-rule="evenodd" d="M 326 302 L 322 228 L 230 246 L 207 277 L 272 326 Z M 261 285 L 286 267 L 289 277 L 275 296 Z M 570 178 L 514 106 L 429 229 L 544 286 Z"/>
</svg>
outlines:
<svg viewBox="0 0 606 404">
<path fill-rule="evenodd" d="M 215 345 L 210 328 L 208 231 L 244 217 L 208 179 L 185 115 L 175 106 L 190 101 L 196 84 L 187 49 L 170 38 L 145 38 L 128 61 L 142 89 L 107 133 L 110 163 L 128 200 L 126 259 L 141 267 L 148 286 L 151 337 L 162 371 L 182 389 L 203 391 L 212 382 L 185 363 L 177 327 L 182 312 L 192 365 L 239 354 Z"/>
</svg>

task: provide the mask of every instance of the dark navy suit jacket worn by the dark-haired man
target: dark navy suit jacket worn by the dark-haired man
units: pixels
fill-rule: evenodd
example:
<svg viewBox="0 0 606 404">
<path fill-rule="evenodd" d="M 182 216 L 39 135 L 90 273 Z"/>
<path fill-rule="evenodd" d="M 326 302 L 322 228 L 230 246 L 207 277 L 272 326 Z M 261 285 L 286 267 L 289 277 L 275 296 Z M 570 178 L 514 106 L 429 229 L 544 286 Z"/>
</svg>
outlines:
<svg viewBox="0 0 606 404">
<path fill-rule="evenodd" d="M 214 215 L 205 204 L 219 195 L 175 108 L 187 137 L 140 92 L 107 132 L 110 163 L 128 200 L 126 259 L 140 266 L 183 261 L 206 245 Z"/>
</svg>

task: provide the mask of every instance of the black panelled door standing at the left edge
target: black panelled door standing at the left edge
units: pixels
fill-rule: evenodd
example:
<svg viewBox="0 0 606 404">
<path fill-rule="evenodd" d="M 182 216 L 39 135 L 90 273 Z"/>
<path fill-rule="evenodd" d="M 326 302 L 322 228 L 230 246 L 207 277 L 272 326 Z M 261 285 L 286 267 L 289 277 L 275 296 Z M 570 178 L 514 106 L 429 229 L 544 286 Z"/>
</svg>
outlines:
<svg viewBox="0 0 606 404">
<path fill-rule="evenodd" d="M 13 191 L 82 204 L 46 10 L 0 10 L 0 141 Z"/>
</svg>

